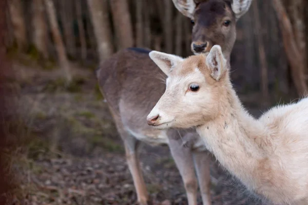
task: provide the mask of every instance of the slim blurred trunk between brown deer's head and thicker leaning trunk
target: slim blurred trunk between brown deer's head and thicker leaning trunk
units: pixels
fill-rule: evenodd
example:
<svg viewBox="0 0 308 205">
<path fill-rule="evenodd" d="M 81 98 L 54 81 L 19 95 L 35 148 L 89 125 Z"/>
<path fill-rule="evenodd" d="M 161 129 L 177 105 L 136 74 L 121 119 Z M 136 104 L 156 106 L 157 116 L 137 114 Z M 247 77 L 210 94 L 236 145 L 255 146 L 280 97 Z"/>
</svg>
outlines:
<svg viewBox="0 0 308 205">
<path fill-rule="evenodd" d="M 261 92 L 263 97 L 263 103 L 266 105 L 268 103 L 268 75 L 267 75 L 267 61 L 265 56 L 265 49 L 263 43 L 263 33 L 260 23 L 260 16 L 259 16 L 259 8 L 258 2 L 253 2 L 253 12 L 254 12 L 254 19 L 255 19 L 255 29 L 257 32 L 257 42 L 259 48 L 259 62 L 261 65 Z"/>
</svg>

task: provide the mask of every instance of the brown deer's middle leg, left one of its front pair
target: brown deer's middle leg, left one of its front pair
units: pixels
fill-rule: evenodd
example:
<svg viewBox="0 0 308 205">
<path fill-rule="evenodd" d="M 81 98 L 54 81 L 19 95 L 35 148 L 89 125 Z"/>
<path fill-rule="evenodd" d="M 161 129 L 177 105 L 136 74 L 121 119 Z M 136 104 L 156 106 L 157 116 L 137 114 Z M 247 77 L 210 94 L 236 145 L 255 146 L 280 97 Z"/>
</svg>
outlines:
<svg viewBox="0 0 308 205">
<path fill-rule="evenodd" d="M 190 146 L 183 145 L 183 141 L 179 137 L 178 132 L 172 132 L 171 135 L 168 133 L 168 138 L 171 155 L 176 162 L 184 182 L 188 204 L 197 205 L 198 181 L 195 174 L 191 148 Z"/>
</svg>

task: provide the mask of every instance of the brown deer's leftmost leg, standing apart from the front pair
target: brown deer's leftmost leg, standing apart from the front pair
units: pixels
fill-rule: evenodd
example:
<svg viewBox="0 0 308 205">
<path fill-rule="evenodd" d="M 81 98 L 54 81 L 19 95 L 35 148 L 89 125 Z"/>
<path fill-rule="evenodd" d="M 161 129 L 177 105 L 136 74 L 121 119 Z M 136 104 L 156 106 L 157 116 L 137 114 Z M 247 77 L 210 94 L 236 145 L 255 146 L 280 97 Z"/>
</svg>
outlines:
<svg viewBox="0 0 308 205">
<path fill-rule="evenodd" d="M 138 202 L 141 205 L 146 205 L 148 200 L 148 193 L 144 182 L 142 170 L 140 167 L 138 146 L 140 141 L 136 138 L 129 136 L 124 140 L 126 161 L 130 174 L 132 175 L 133 184 L 136 188 Z"/>
</svg>

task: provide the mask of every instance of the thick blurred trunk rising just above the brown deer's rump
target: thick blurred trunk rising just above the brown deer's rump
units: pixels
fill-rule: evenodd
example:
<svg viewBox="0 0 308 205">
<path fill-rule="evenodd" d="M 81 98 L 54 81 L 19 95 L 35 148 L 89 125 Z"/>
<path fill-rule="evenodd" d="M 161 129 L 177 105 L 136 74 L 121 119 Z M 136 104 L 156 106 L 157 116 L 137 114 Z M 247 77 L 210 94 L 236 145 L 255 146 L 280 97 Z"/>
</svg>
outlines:
<svg viewBox="0 0 308 205">
<path fill-rule="evenodd" d="M 108 18 L 106 0 L 87 0 L 92 18 L 95 38 L 100 60 L 106 59 L 113 53 L 111 29 Z"/>
</svg>

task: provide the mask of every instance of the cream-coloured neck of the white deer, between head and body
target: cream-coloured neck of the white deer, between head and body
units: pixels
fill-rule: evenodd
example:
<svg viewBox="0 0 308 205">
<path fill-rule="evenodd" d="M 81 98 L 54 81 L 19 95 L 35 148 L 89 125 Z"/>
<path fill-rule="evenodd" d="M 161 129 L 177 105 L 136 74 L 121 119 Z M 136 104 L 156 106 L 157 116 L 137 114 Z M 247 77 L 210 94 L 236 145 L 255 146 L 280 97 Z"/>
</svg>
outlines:
<svg viewBox="0 0 308 205">
<path fill-rule="evenodd" d="M 232 88 L 221 96 L 227 98 L 220 105 L 220 114 L 197 131 L 220 163 L 254 190 L 260 181 L 255 173 L 260 161 L 266 158 L 265 128 L 246 113 Z"/>
</svg>

